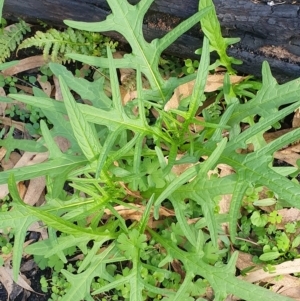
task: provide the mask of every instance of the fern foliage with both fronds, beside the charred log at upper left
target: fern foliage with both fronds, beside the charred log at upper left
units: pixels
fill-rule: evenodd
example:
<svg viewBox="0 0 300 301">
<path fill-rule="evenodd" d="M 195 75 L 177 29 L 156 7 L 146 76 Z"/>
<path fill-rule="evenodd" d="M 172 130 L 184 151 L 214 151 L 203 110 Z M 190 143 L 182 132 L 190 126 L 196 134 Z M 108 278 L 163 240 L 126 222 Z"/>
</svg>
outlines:
<svg viewBox="0 0 300 301">
<path fill-rule="evenodd" d="M 2 19 L 2 25 L 6 21 Z M 106 47 L 115 49 L 117 42 L 112 41 L 100 33 L 74 30 L 66 28 L 57 30 L 50 28 L 46 31 L 36 31 L 33 36 L 24 39 L 26 33 L 31 31 L 31 26 L 20 20 L 5 28 L 1 28 L 0 34 L 0 63 L 11 57 L 13 51 L 19 51 L 29 47 L 43 49 L 45 60 L 52 62 L 70 62 L 65 54 L 81 53 L 92 56 L 106 56 Z"/>
</svg>

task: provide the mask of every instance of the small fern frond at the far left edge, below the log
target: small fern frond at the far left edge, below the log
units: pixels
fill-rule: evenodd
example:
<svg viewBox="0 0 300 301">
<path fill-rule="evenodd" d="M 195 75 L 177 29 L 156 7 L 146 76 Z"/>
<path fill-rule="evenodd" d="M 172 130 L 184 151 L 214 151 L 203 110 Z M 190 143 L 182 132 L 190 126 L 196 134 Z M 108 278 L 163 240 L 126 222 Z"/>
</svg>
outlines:
<svg viewBox="0 0 300 301">
<path fill-rule="evenodd" d="M 0 63 L 10 57 L 11 52 L 20 44 L 26 32 L 30 32 L 30 26 L 23 20 L 4 29 L 0 35 Z"/>
</svg>

